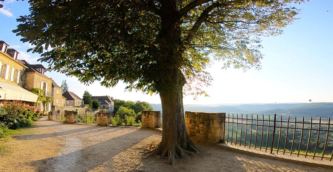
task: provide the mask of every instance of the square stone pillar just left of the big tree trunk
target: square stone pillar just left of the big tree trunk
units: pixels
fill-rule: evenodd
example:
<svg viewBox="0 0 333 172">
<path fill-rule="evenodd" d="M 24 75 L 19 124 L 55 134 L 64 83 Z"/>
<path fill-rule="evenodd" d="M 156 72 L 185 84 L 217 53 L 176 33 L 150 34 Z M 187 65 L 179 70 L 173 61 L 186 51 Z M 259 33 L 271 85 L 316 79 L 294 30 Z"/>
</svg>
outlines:
<svg viewBox="0 0 333 172">
<path fill-rule="evenodd" d="M 158 127 L 157 117 L 161 111 L 141 111 L 141 128 L 155 129 Z"/>
</svg>

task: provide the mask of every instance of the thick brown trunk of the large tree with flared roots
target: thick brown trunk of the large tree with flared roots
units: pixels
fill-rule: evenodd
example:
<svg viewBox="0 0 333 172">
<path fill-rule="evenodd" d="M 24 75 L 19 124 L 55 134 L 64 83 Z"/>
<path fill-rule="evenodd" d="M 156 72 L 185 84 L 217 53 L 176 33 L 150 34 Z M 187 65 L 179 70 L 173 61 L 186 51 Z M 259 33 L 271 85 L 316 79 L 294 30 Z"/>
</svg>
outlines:
<svg viewBox="0 0 333 172">
<path fill-rule="evenodd" d="M 174 87 L 160 91 L 163 110 L 162 141 L 151 154 L 160 155 L 161 158 L 168 156 L 168 162 L 173 165 L 175 158 L 187 159 L 189 155 L 195 155 L 199 150 L 186 132 L 182 96 L 182 87 L 185 84 L 183 74 L 178 70 L 174 77 Z"/>
</svg>

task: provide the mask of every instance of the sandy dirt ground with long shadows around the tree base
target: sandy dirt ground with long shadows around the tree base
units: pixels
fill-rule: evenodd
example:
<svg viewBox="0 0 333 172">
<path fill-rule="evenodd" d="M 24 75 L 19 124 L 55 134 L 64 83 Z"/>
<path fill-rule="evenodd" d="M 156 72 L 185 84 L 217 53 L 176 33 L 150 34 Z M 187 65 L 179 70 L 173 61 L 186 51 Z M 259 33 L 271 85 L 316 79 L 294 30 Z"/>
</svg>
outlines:
<svg viewBox="0 0 333 172">
<path fill-rule="evenodd" d="M 190 160 L 177 160 L 173 168 L 157 157 L 142 159 L 148 144 L 161 139 L 161 133 L 153 130 L 62 124 L 47 118 L 28 130 L 5 143 L 9 153 L 0 156 L 1 172 L 332 171 L 209 146 L 200 146 L 201 153 Z"/>
</svg>

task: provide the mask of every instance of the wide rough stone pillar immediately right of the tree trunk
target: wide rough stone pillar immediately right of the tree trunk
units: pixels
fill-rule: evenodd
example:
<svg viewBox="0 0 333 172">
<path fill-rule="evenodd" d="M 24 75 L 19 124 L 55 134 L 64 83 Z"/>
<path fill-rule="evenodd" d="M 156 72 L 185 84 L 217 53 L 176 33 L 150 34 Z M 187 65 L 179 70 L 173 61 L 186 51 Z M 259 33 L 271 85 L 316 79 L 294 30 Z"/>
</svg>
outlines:
<svg viewBox="0 0 333 172">
<path fill-rule="evenodd" d="M 216 144 L 223 140 L 225 113 L 185 112 L 185 125 L 193 142 Z"/>
</svg>

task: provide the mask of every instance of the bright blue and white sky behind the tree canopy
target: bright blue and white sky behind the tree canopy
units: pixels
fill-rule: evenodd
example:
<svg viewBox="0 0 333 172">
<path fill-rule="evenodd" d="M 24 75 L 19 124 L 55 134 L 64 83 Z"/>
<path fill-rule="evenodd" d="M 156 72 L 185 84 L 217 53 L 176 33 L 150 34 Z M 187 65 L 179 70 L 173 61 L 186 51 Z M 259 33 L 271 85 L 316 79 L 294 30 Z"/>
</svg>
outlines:
<svg viewBox="0 0 333 172">
<path fill-rule="evenodd" d="M 31 45 L 20 42 L 21 38 L 12 33 L 19 24 L 16 19 L 29 15 L 27 1 L 5 0 L 1 3 L 4 7 L 0 9 L 0 40 L 18 50 L 19 59 L 48 66 L 37 61 L 39 54 L 26 51 Z M 333 1 L 313 0 L 296 6 L 303 9 L 297 16 L 299 20 L 284 28 L 283 35 L 262 38 L 261 70 L 224 70 L 221 69 L 223 62 L 214 62 L 207 69 L 214 78 L 212 86 L 203 88 L 209 97 L 193 100 L 193 97 L 185 96 L 184 104 L 307 103 L 309 99 L 311 102 L 333 102 Z M 45 74 L 58 85 L 66 79 L 69 91 L 81 98 L 87 89 L 93 96 L 161 103 L 159 95 L 125 91 L 123 83 L 114 88 L 106 88 L 99 82 L 86 86 L 76 77 L 57 72 Z"/>
</svg>

